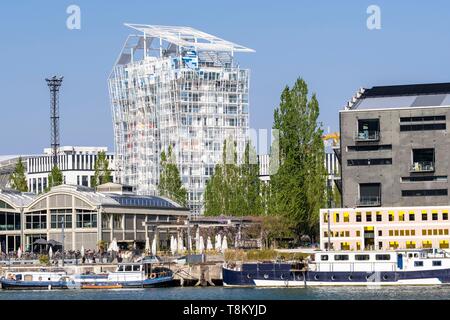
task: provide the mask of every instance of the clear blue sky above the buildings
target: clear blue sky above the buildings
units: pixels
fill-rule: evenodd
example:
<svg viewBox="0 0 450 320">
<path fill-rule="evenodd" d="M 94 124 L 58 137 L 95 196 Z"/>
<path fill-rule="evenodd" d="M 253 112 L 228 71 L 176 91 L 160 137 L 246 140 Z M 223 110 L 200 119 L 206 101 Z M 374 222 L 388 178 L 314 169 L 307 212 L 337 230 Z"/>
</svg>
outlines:
<svg viewBox="0 0 450 320">
<path fill-rule="evenodd" d="M 81 8 L 81 30 L 66 8 Z M 366 9 L 381 8 L 381 30 Z M 251 126 L 270 128 L 280 92 L 297 77 L 318 95 L 325 128 L 359 87 L 450 82 L 448 1 L 1 1 L 0 154 L 40 153 L 50 142 L 44 78 L 64 75 L 61 144 L 113 148 L 107 77 L 129 34 L 123 23 L 186 25 L 256 50 Z"/>
</svg>

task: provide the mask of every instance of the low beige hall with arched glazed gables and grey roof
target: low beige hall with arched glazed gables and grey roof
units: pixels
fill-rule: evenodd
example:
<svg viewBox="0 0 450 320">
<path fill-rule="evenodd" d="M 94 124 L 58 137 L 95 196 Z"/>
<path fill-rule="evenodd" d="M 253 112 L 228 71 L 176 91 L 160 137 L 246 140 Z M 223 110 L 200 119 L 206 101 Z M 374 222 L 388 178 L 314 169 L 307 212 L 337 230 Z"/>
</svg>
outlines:
<svg viewBox="0 0 450 320">
<path fill-rule="evenodd" d="M 36 240 L 62 243 L 64 234 L 65 250 L 95 250 L 99 241 L 113 239 L 143 248 L 146 237 L 156 235 L 164 248 L 188 216 L 188 209 L 169 199 L 137 196 L 130 187 L 114 183 L 96 190 L 62 185 L 40 195 L 1 191 L 0 244 L 3 252 L 16 251 L 23 237 L 25 250 L 35 251 Z"/>
</svg>

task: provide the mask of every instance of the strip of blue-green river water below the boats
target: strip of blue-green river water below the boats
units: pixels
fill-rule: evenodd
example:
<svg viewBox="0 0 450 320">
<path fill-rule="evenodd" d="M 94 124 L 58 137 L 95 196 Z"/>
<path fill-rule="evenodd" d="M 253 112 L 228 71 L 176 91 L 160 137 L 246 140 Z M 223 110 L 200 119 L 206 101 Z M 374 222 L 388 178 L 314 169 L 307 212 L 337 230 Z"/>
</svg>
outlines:
<svg viewBox="0 0 450 320">
<path fill-rule="evenodd" d="M 450 300 L 450 286 L 1 290 L 0 300 Z"/>
</svg>

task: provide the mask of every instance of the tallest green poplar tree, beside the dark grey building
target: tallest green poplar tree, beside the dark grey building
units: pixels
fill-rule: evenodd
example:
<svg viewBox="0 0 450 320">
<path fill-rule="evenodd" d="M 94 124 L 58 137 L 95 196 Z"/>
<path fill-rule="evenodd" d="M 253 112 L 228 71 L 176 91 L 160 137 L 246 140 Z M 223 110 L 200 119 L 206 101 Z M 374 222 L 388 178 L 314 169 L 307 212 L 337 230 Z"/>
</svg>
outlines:
<svg viewBox="0 0 450 320">
<path fill-rule="evenodd" d="M 297 237 L 317 234 L 319 210 L 326 203 L 325 151 L 318 117 L 316 95 L 308 98 L 303 79 L 284 89 L 274 113 L 279 167 L 271 176 L 270 211 L 283 216 Z"/>
</svg>

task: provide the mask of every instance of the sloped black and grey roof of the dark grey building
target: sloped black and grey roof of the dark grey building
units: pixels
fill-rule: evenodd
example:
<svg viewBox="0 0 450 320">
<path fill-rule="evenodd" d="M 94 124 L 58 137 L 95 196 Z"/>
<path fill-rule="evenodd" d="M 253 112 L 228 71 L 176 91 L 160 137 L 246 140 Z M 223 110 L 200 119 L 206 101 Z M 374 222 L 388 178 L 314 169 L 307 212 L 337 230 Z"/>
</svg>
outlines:
<svg viewBox="0 0 450 320">
<path fill-rule="evenodd" d="M 379 86 L 360 89 L 346 110 L 450 106 L 450 83 Z"/>
</svg>

